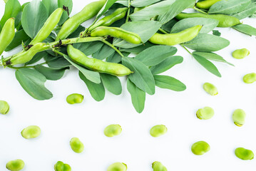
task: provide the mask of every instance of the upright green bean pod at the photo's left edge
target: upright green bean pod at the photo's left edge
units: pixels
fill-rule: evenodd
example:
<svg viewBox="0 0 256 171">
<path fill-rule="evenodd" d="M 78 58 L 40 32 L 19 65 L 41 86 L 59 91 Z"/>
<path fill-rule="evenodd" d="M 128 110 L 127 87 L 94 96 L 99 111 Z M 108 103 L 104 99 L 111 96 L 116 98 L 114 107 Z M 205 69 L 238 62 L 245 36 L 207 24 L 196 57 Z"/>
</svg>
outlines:
<svg viewBox="0 0 256 171">
<path fill-rule="evenodd" d="M 14 18 L 8 19 L 0 33 L 0 55 L 9 46 L 15 36 Z"/>
</svg>

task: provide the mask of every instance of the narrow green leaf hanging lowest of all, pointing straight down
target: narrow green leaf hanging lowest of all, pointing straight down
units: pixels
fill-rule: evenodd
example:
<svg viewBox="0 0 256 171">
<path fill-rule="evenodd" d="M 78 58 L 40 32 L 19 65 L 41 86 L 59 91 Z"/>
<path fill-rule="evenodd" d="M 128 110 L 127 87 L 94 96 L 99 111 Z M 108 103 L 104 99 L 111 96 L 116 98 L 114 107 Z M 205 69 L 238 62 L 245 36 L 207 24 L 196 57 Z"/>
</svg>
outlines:
<svg viewBox="0 0 256 171">
<path fill-rule="evenodd" d="M 145 92 L 136 87 L 129 79 L 127 80 L 127 90 L 130 93 L 133 107 L 138 113 L 142 113 L 145 106 Z"/>
</svg>

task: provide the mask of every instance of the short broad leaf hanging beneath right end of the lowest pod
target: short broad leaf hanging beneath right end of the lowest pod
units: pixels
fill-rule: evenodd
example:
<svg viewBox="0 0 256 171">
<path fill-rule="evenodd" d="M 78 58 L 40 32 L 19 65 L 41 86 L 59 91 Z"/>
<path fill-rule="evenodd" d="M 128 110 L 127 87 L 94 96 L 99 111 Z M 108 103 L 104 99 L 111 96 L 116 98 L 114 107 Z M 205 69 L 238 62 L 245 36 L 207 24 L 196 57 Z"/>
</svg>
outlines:
<svg viewBox="0 0 256 171">
<path fill-rule="evenodd" d="M 101 81 L 103 86 L 114 95 L 120 95 L 122 93 L 122 85 L 118 77 L 101 73 Z"/>
</svg>

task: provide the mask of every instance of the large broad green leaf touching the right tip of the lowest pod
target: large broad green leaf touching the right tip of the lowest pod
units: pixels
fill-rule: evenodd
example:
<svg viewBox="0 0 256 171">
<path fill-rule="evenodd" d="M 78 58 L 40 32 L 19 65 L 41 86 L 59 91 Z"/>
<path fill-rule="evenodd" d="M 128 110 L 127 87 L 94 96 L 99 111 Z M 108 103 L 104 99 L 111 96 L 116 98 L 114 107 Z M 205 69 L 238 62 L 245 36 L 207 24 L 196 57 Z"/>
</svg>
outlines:
<svg viewBox="0 0 256 171">
<path fill-rule="evenodd" d="M 155 93 L 155 81 L 147 66 L 135 58 L 128 57 L 123 57 L 122 63 L 124 66 L 130 68 L 130 71 L 134 72 L 131 73 L 128 78 L 135 84 L 135 86 L 150 95 Z"/>
</svg>

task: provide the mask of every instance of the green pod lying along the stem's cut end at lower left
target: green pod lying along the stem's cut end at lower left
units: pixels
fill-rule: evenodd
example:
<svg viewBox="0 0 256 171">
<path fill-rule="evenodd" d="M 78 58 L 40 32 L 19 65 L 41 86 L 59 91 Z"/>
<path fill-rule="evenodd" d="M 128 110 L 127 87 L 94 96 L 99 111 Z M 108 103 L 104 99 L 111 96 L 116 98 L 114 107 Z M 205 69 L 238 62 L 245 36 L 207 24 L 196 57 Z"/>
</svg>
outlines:
<svg viewBox="0 0 256 171">
<path fill-rule="evenodd" d="M 29 48 L 28 51 L 19 53 L 19 55 L 12 57 L 9 61 L 6 61 L 6 65 L 15 66 L 17 64 L 29 62 L 36 53 L 43 50 L 43 46 L 45 46 L 45 44 L 46 43 L 36 43 L 34 46 Z"/>
</svg>

